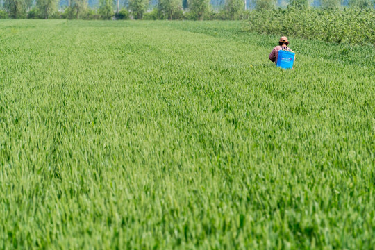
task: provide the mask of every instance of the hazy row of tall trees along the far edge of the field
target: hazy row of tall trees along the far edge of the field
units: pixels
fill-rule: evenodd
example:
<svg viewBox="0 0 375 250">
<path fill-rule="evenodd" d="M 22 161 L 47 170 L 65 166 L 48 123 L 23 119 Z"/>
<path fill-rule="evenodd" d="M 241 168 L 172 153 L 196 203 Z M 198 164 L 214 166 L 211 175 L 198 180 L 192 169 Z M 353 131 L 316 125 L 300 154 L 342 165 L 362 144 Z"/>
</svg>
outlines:
<svg viewBox="0 0 375 250">
<path fill-rule="evenodd" d="M 211 0 L 213 1 L 213 0 Z M 340 9 L 341 0 L 315 0 L 324 9 Z M 346 0 L 349 6 L 374 8 L 375 0 Z M 2 0 L 0 18 L 40 19 L 240 19 L 249 8 L 274 10 L 277 7 L 310 8 L 310 0 L 220 0 L 213 8 L 210 0 L 128 0 L 120 8 L 119 0 L 99 0 L 98 8 L 90 8 L 88 0 Z M 316 3 L 315 3 L 316 5 Z"/>
</svg>

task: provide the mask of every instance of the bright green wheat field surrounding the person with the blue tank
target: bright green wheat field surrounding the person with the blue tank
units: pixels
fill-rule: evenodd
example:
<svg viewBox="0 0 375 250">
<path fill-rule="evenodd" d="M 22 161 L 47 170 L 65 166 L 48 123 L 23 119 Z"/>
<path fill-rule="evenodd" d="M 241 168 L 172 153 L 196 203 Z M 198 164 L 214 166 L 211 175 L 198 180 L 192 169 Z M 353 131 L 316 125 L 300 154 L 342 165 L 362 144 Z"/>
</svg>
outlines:
<svg viewBox="0 0 375 250">
<path fill-rule="evenodd" d="M 0 22 L 0 249 L 375 249 L 375 49 L 241 22 Z"/>
</svg>

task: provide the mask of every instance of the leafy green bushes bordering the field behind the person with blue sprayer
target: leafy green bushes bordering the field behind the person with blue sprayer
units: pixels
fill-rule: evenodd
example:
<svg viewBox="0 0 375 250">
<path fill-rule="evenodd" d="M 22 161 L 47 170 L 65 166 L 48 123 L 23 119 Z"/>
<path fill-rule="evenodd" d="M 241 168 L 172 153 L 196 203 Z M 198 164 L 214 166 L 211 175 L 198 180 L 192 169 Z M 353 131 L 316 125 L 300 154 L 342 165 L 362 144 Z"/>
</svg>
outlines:
<svg viewBox="0 0 375 250">
<path fill-rule="evenodd" d="M 244 29 L 325 42 L 375 44 L 375 10 L 251 11 Z"/>
</svg>

